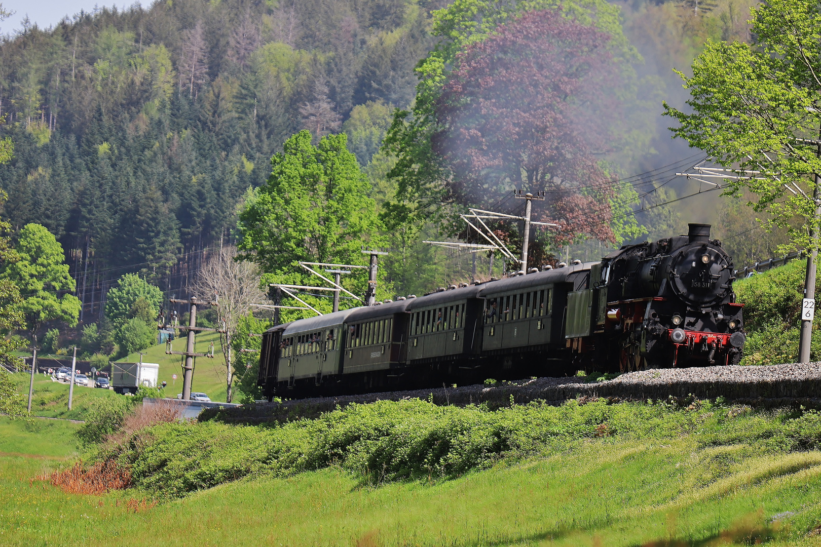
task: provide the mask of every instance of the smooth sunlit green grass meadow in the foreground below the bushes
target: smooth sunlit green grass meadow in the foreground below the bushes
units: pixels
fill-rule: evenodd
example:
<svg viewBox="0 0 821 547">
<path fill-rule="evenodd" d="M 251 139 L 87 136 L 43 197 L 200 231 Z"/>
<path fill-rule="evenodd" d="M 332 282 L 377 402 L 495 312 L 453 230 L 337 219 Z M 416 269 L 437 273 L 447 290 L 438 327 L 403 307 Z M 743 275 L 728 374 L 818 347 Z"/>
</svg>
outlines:
<svg viewBox="0 0 821 547">
<path fill-rule="evenodd" d="M 737 444 L 584 439 L 452 480 L 380 485 L 337 466 L 255 472 L 152 507 L 137 490 L 32 481 L 71 462 L 77 425 L 0 417 L 0 545 L 821 545 L 821 452 L 756 451 L 740 426 L 766 419 L 728 415 Z"/>
</svg>

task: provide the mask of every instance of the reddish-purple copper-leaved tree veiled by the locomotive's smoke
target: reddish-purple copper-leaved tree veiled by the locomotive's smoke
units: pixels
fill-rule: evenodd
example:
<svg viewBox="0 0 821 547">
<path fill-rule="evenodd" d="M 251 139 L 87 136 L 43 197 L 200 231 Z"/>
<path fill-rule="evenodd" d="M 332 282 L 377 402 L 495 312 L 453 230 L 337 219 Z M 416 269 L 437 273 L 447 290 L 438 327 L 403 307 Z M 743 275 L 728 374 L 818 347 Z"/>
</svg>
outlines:
<svg viewBox="0 0 821 547">
<path fill-rule="evenodd" d="M 435 103 L 431 139 L 451 176 L 447 194 L 488 206 L 511 187 L 546 190 L 536 217 L 613 240 L 614 196 L 597 154 L 613 142 L 620 103 L 610 36 L 555 10 L 530 11 L 456 55 Z M 534 219 L 535 220 L 535 219 Z"/>
</svg>

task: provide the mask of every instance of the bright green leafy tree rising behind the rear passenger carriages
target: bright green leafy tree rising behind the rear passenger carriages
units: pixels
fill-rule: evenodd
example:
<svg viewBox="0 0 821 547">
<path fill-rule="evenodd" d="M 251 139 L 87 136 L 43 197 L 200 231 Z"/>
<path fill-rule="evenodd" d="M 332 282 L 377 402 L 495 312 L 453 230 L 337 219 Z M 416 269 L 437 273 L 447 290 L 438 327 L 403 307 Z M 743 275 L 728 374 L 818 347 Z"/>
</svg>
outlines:
<svg viewBox="0 0 821 547">
<path fill-rule="evenodd" d="M 296 285 L 323 283 L 318 277 L 294 273 L 300 271 L 299 261 L 367 263 L 361 249 L 379 246 L 381 223 L 374 200 L 368 197 L 369 182 L 346 147 L 346 135 L 328 135 L 314 146 L 311 134 L 300 131 L 283 144 L 271 165 L 268 183 L 246 198 L 240 213 L 241 258 L 272 274 L 268 282 Z M 361 298 L 366 281 L 358 272 L 342 283 Z M 380 285 L 383 294 L 390 294 L 389 286 Z M 324 311 L 330 310 L 329 300 L 306 298 Z"/>
</svg>

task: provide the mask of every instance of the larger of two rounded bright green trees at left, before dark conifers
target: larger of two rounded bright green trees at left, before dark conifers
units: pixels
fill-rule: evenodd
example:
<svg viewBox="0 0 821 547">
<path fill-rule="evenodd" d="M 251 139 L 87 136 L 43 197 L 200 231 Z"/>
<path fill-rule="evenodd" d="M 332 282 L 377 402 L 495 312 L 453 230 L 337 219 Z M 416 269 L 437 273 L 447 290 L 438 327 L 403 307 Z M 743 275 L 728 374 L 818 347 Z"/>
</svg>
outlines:
<svg viewBox="0 0 821 547">
<path fill-rule="evenodd" d="M 27 224 L 17 238 L 16 252 L 20 260 L 8 264 L 0 279 L 11 281 L 25 294 L 17 308 L 25 314 L 30 331 L 35 333 L 44 321 L 53 319 L 75 326 L 80 299 L 70 294 L 75 283 L 63 263 L 62 245 L 44 226 Z"/>
</svg>

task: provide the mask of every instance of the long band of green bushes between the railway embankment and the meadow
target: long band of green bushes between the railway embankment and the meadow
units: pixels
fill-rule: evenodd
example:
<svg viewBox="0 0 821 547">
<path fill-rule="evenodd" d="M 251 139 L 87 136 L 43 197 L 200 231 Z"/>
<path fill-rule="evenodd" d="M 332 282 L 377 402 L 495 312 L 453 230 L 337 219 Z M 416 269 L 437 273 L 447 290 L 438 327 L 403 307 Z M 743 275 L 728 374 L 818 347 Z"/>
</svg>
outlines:
<svg viewBox="0 0 821 547">
<path fill-rule="evenodd" d="M 569 401 L 561 407 L 530 403 L 488 411 L 419 399 L 382 401 L 273 428 L 163 424 L 106 447 L 95 458 L 117 458 L 131 467 L 140 487 L 176 497 L 250 473 L 288 476 L 331 465 L 372 481 L 453 477 L 501 458 L 575 449 L 597 437 L 669 442 L 699 435 L 703 448 L 744 442 L 755 454 L 819 447 L 818 413 L 775 419 L 750 413 L 729 420 L 729 410 L 709 403 L 681 410 L 666 403 Z"/>
</svg>

